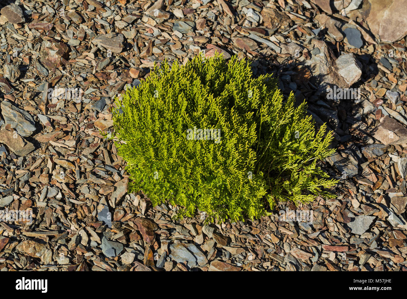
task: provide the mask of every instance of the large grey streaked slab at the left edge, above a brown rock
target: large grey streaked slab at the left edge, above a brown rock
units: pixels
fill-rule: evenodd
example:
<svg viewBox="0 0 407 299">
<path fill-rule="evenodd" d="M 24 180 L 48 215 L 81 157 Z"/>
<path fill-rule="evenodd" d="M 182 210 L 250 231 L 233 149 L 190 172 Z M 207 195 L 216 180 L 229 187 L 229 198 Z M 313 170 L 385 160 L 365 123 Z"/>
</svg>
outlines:
<svg viewBox="0 0 407 299">
<path fill-rule="evenodd" d="M 7 100 L 2 101 L 0 107 L 6 126 L 9 124 L 23 137 L 31 136 L 35 132 L 35 121 L 30 113 L 15 107 Z"/>
</svg>

